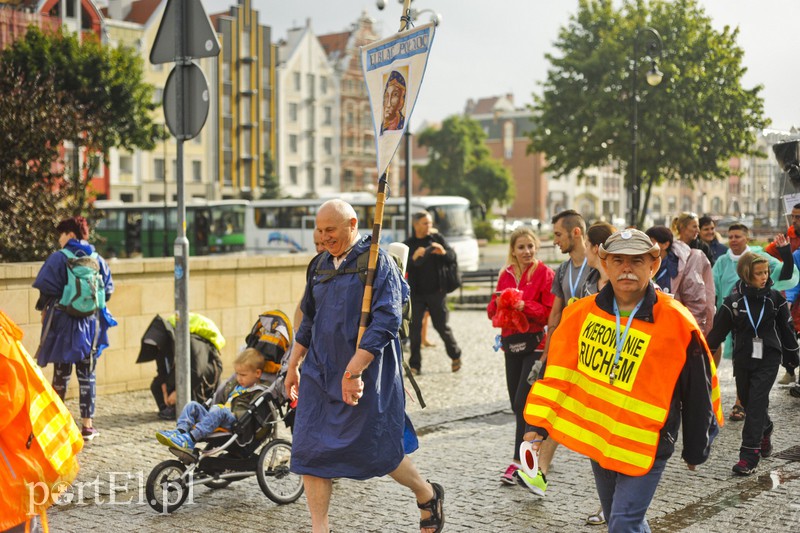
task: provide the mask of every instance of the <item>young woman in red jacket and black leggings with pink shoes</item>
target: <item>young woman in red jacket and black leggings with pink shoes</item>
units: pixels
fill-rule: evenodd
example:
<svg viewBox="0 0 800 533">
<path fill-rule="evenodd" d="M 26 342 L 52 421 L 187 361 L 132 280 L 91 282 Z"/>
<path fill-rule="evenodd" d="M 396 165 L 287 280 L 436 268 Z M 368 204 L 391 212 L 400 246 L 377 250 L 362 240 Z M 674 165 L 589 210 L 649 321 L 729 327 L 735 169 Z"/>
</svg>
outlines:
<svg viewBox="0 0 800 533">
<path fill-rule="evenodd" d="M 502 324 L 500 334 L 502 339 L 500 344 L 505 354 L 508 399 L 516 418 L 513 460 L 500 477 L 503 483 L 509 485 L 516 483 L 514 474 L 519 469 L 519 445 L 525 433 L 523 410 L 530 389 L 528 374 L 542 355 L 544 327 L 547 325 L 554 299 L 550 287 L 555 273 L 536 258 L 538 249 L 539 239 L 534 234 L 533 228 L 521 227 L 514 230 L 509 238 L 508 265 L 500 273 L 497 291 L 492 295 L 486 309 L 489 318 L 494 319 L 498 311 L 509 311 L 498 305 L 498 296 L 507 289 L 521 292 L 521 298 L 510 311 L 524 314 L 524 326 L 520 328 L 512 324 Z M 500 300 L 502 302 L 504 299 Z M 495 349 L 499 349 L 499 346 Z"/>
</svg>

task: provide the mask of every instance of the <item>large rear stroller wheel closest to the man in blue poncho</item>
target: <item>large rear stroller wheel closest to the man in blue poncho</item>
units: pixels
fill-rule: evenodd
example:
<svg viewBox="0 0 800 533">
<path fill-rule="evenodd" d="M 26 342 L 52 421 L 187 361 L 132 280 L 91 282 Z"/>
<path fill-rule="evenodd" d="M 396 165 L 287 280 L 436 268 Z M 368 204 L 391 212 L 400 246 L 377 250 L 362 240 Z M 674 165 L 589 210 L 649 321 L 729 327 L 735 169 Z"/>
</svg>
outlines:
<svg viewBox="0 0 800 533">
<path fill-rule="evenodd" d="M 258 484 L 275 503 L 292 503 L 303 494 L 303 477 L 289 471 L 291 464 L 292 445 L 282 439 L 269 442 L 258 456 Z"/>
</svg>

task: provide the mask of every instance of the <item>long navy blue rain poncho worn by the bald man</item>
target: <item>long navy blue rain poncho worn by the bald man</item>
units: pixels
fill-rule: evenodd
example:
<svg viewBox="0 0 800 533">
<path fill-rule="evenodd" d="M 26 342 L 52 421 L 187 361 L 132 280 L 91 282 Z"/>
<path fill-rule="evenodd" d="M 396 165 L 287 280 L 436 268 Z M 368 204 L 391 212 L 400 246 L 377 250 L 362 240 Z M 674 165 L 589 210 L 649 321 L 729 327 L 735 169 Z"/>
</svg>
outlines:
<svg viewBox="0 0 800 533">
<path fill-rule="evenodd" d="M 358 241 L 339 268 L 354 268 L 370 241 L 370 237 Z M 323 254 L 319 261 L 319 270 L 334 268 L 330 254 Z M 405 416 L 403 356 L 397 334 L 409 288 L 391 263 L 381 250 L 370 323 L 360 345 L 375 359 L 364 371 L 364 395 L 356 406 L 342 401 L 341 381 L 356 349 L 364 284 L 356 274 L 319 283 L 319 276 L 312 273 L 296 336 L 308 353 L 292 441 L 295 473 L 351 479 L 383 476 L 398 467 L 405 452 L 416 448 L 416 435 Z M 405 450 L 404 430 L 407 443 L 412 443 Z"/>
</svg>

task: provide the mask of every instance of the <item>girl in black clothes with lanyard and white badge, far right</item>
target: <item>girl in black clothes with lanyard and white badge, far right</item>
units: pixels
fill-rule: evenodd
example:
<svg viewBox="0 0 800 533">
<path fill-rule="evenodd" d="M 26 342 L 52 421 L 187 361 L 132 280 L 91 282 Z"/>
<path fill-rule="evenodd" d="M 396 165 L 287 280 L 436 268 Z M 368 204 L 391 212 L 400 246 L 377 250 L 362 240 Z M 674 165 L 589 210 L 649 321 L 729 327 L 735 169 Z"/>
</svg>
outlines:
<svg viewBox="0 0 800 533">
<path fill-rule="evenodd" d="M 745 252 L 736 273 L 739 281 L 717 311 L 707 340 L 713 351 L 729 332 L 733 333 L 733 374 L 746 413 L 739 462 L 733 472 L 747 476 L 755 471 L 761 457 L 772 454 L 769 392 L 781 359 L 787 368 L 797 367 L 798 346 L 789 305 L 771 288 L 767 259 Z"/>
</svg>

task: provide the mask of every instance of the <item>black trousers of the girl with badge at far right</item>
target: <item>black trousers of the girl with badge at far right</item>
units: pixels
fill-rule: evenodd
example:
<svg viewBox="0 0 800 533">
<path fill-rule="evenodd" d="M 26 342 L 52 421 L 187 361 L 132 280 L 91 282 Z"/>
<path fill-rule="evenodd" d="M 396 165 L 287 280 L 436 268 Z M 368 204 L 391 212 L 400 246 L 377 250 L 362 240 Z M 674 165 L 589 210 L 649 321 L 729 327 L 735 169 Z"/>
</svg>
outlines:
<svg viewBox="0 0 800 533">
<path fill-rule="evenodd" d="M 744 407 L 742 448 L 761 449 L 761 437 L 772 430 L 769 391 L 778 376 L 778 363 L 761 363 L 753 369 L 736 368 L 736 392 Z"/>
</svg>

